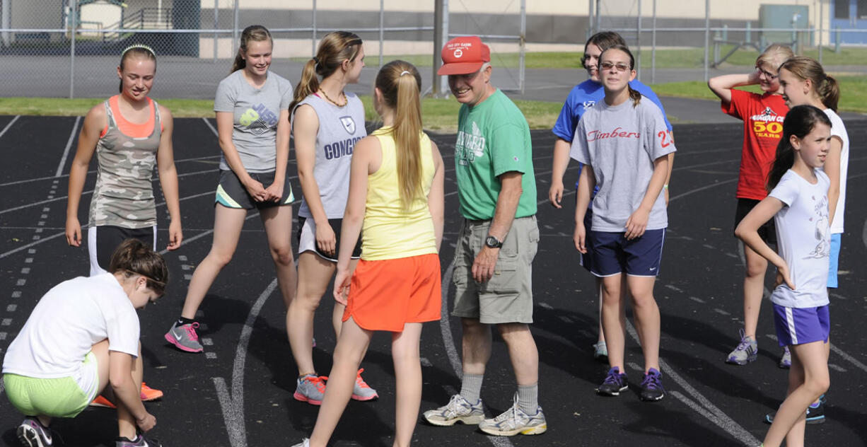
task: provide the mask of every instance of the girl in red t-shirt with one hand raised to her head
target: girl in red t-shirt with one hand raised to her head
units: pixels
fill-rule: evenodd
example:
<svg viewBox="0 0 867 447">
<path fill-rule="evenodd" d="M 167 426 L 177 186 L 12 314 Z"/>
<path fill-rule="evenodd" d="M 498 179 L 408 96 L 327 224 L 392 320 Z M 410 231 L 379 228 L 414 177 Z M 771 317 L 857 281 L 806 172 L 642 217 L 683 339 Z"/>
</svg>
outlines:
<svg viewBox="0 0 867 447">
<path fill-rule="evenodd" d="M 779 85 L 777 70 L 786 59 L 794 56 L 792 49 L 773 44 L 756 58 L 756 69 L 749 75 L 716 76 L 707 82 L 715 95 L 720 96 L 720 108 L 728 115 L 744 122 L 744 146 L 740 155 L 740 178 L 738 179 L 738 207 L 734 215 L 734 227 L 767 195 L 765 184 L 780 137 L 783 135 L 783 119 L 789 108 L 783 101 L 783 89 Z M 743 85 L 759 84 L 762 94 L 734 89 Z M 766 243 L 776 243 L 776 230 L 768 221 L 759 228 L 759 235 Z M 744 275 L 744 327 L 740 330 L 740 343 L 728 354 L 726 363 L 746 365 L 756 359 L 759 345 L 756 342 L 756 325 L 759 308 L 765 290 L 767 260 L 750 247 L 744 248 L 746 272 Z M 786 349 L 780 359 L 780 367 L 791 365 L 791 356 Z"/>
</svg>

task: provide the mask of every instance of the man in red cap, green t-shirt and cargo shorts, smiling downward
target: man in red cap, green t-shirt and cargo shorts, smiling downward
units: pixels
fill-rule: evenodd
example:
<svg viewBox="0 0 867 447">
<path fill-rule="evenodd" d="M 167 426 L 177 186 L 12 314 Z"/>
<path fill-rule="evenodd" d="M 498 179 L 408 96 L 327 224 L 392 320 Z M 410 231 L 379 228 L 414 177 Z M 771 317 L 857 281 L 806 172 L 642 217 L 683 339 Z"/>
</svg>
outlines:
<svg viewBox="0 0 867 447">
<path fill-rule="evenodd" d="M 434 425 L 479 424 L 498 436 L 547 429 L 538 405 L 538 350 L 532 323 L 531 265 L 539 231 L 530 128 L 518 107 L 491 85 L 491 51 L 477 36 L 457 37 L 442 49 L 440 75 L 461 103 L 454 146 L 460 214 L 455 250 L 453 316 L 463 325 L 460 394 L 425 412 Z M 512 358 L 514 405 L 486 419 L 480 397 L 496 325 Z"/>
</svg>

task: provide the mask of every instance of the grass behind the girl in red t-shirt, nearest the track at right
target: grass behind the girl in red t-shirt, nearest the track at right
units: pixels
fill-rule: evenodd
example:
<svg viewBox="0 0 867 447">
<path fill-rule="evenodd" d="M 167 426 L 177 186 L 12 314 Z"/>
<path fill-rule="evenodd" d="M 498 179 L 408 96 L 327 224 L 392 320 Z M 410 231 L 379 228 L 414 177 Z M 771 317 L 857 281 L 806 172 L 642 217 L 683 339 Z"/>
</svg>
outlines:
<svg viewBox="0 0 867 447">
<path fill-rule="evenodd" d="M 840 103 L 838 109 L 844 112 L 867 113 L 867 76 L 839 76 Z M 651 86 L 656 95 L 679 96 L 683 98 L 709 99 L 718 98 L 707 83 L 702 81 L 667 82 Z M 759 86 L 751 85 L 739 89 L 760 92 Z"/>
</svg>

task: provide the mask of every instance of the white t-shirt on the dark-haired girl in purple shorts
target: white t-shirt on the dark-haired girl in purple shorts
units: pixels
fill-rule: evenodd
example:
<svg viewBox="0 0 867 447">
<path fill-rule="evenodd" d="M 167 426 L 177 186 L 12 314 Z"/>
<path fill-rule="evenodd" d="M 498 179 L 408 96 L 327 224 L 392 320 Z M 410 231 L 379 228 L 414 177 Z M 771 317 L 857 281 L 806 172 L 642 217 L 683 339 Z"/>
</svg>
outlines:
<svg viewBox="0 0 867 447">
<path fill-rule="evenodd" d="M 795 290 L 781 284 L 771 293 L 774 304 L 818 307 L 828 304 L 831 232 L 828 227 L 828 176 L 815 169 L 815 185 L 792 169 L 786 171 L 770 197 L 786 204 L 773 216 L 779 255 L 789 266 Z"/>
</svg>

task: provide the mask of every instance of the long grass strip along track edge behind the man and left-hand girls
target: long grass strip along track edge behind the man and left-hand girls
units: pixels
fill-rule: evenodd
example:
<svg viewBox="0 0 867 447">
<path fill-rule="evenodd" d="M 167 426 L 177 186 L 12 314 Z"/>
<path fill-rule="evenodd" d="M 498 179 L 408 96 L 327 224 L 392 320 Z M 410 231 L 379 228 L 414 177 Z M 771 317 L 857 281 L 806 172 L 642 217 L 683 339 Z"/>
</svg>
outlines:
<svg viewBox="0 0 867 447">
<path fill-rule="evenodd" d="M 369 95 L 362 95 L 365 119 L 378 119 Z M 160 99 L 155 98 L 172 111 L 177 118 L 212 118 L 213 101 L 204 99 Z M 83 116 L 88 110 L 105 100 L 95 98 L 0 98 L 0 115 L 37 115 L 37 116 Z M 515 101 L 524 113 L 530 128 L 551 128 L 557 121 L 562 104 L 541 101 Z M 458 109 L 460 103 L 453 99 L 424 98 L 421 101 L 421 114 L 425 128 L 440 132 L 454 131 L 458 128 Z"/>
</svg>

